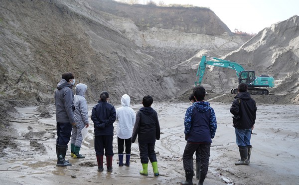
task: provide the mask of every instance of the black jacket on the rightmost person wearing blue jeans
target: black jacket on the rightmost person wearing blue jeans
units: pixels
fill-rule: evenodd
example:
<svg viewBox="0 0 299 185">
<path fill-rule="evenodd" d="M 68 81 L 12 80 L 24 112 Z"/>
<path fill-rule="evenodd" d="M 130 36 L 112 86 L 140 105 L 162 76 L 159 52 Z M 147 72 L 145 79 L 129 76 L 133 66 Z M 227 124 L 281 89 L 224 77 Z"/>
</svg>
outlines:
<svg viewBox="0 0 299 185">
<path fill-rule="evenodd" d="M 234 115 L 233 123 L 235 128 L 251 129 L 256 120 L 256 102 L 248 92 L 240 92 L 235 96 L 230 112 Z"/>
</svg>

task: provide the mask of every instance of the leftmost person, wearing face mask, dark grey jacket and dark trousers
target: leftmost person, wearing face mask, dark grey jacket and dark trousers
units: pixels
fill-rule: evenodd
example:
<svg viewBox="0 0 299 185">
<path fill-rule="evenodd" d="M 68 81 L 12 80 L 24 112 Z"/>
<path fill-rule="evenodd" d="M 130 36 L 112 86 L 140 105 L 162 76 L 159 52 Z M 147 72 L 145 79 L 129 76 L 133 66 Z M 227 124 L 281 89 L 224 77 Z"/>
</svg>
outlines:
<svg viewBox="0 0 299 185">
<path fill-rule="evenodd" d="M 56 107 L 56 166 L 65 167 L 72 166 L 65 160 L 67 145 L 71 138 L 72 125 L 76 125 L 74 118 L 74 104 L 72 87 L 75 84 L 75 77 L 72 73 L 62 74 L 60 82 L 57 84 L 55 91 L 55 107 Z"/>
</svg>

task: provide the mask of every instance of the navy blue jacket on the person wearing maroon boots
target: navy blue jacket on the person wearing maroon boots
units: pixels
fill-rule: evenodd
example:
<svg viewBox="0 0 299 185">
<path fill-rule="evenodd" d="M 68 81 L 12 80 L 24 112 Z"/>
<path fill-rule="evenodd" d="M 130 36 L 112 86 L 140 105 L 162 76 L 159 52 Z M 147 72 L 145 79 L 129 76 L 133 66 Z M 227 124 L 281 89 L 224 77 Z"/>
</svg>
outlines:
<svg viewBox="0 0 299 185">
<path fill-rule="evenodd" d="M 94 123 L 95 136 L 113 136 L 113 123 L 116 111 L 113 105 L 99 100 L 92 109 L 91 120 Z"/>
</svg>

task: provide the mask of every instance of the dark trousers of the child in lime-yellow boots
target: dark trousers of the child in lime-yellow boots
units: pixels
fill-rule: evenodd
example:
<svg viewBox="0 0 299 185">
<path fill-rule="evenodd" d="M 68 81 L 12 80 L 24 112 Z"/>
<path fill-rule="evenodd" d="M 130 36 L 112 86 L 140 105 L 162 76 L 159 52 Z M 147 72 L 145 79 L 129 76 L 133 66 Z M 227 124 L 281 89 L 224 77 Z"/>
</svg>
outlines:
<svg viewBox="0 0 299 185">
<path fill-rule="evenodd" d="M 139 143 L 140 160 L 142 164 L 156 162 L 157 158 L 154 152 L 155 143 Z"/>
</svg>

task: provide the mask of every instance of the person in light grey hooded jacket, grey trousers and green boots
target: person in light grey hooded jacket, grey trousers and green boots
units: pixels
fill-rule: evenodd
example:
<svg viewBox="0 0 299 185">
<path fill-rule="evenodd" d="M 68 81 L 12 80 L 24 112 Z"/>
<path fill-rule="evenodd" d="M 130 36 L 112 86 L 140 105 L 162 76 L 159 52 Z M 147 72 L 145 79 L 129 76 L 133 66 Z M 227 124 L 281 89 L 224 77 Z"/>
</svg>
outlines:
<svg viewBox="0 0 299 185">
<path fill-rule="evenodd" d="M 82 159 L 85 156 L 79 154 L 82 145 L 82 129 L 89 126 L 88 122 L 88 109 L 87 102 L 85 99 L 85 92 L 87 90 L 87 85 L 79 83 L 76 85 L 76 95 L 74 96 L 74 117 L 76 125 L 72 128 L 71 135 L 71 156 L 74 159 Z"/>
</svg>

